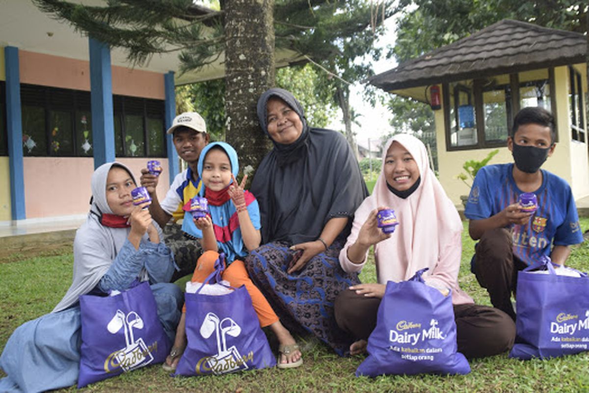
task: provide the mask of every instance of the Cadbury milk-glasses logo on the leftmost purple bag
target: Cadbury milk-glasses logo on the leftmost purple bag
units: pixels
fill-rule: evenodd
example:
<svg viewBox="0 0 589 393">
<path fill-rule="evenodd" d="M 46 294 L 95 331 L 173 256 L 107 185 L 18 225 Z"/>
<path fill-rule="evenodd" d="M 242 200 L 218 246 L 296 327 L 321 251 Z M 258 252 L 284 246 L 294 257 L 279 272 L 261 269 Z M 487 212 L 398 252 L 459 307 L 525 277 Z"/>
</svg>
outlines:
<svg viewBox="0 0 589 393">
<path fill-rule="evenodd" d="M 142 338 L 135 341 L 133 335 L 133 329 L 143 329 L 143 326 L 143 319 L 138 313 L 131 311 L 125 315 L 123 311 L 117 310 L 111 321 L 108 322 L 107 330 L 116 334 L 124 329 L 125 346 L 108 355 L 104 362 L 104 371 L 114 372 L 119 368 L 122 368 L 123 371 L 131 371 L 153 362 L 151 352 L 157 352 L 157 341 L 147 347 Z"/>
</svg>

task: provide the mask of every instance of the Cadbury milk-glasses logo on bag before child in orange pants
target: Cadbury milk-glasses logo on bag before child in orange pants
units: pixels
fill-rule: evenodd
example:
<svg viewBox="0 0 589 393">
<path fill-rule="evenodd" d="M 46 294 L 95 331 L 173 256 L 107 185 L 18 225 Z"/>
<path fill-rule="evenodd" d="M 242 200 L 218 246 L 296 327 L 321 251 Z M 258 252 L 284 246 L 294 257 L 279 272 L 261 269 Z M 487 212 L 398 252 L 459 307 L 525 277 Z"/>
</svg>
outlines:
<svg viewBox="0 0 589 393">
<path fill-rule="evenodd" d="M 196 374 L 209 374 L 211 371 L 213 374 L 224 374 L 248 369 L 247 362 L 253 361 L 253 352 L 241 356 L 236 346 L 227 348 L 227 335 L 239 336 L 241 327 L 229 317 L 219 319 L 215 313 L 209 312 L 200 326 L 200 335 L 208 339 L 213 333 L 217 339 L 217 354 L 201 358 L 196 364 Z"/>
</svg>

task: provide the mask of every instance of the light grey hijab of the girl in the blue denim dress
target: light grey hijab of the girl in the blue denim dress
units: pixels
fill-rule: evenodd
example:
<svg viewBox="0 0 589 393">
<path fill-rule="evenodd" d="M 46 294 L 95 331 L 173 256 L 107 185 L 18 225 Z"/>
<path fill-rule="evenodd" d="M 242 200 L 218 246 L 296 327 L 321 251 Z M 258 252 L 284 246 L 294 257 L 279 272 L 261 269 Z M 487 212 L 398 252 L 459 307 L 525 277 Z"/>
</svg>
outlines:
<svg viewBox="0 0 589 393">
<path fill-rule="evenodd" d="M 67 309 L 77 303 L 81 295 L 94 289 L 127 240 L 130 228 L 112 228 L 100 223 L 102 213 L 112 214 L 107 202 L 106 189 L 108 172 L 113 166 L 125 169 L 135 181 L 131 170 L 118 162 L 102 164 L 92 174 L 90 213 L 86 222 L 77 230 L 74 239 L 72 285 L 53 312 Z M 147 234 L 144 235 L 144 239 L 147 239 Z"/>
</svg>

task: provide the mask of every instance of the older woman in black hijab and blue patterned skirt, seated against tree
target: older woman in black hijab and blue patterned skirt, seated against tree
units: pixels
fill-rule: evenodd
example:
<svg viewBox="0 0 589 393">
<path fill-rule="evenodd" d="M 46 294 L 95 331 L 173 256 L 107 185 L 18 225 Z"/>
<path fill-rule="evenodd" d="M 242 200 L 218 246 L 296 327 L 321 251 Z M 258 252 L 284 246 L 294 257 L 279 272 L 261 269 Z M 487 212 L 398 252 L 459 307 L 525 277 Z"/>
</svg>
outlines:
<svg viewBox="0 0 589 393">
<path fill-rule="evenodd" d="M 257 114 L 274 148 L 252 182 L 266 244 L 246 259 L 250 278 L 289 330 L 302 327 L 343 355 L 353 338 L 337 327 L 333 301 L 359 280 L 338 256 L 366 184 L 345 137 L 308 127 L 289 91 L 266 91 Z"/>
</svg>

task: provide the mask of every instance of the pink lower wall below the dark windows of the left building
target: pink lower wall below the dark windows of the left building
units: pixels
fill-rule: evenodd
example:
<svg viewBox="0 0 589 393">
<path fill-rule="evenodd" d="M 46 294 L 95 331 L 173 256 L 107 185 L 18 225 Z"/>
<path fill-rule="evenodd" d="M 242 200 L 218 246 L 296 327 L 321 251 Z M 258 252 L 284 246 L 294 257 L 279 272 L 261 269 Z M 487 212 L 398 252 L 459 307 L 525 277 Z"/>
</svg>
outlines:
<svg viewBox="0 0 589 393">
<path fill-rule="evenodd" d="M 2 157 L 4 158 L 4 157 Z M 141 168 L 147 158 L 121 158 L 130 167 L 138 182 Z M 158 199 L 168 190 L 167 160 L 160 158 L 164 171 L 160 175 Z M 27 218 L 71 216 L 88 212 L 91 190 L 90 180 L 94 171 L 91 157 L 25 157 L 25 203 Z M 8 195 L 8 200 L 10 196 Z M 2 193 L 0 193 L 0 207 Z M 3 210 L 3 209 L 2 209 Z M 1 212 L 1 211 L 0 211 Z M 1 220 L 0 216 L 0 220 Z M 10 219 L 10 209 L 8 217 Z"/>
</svg>

